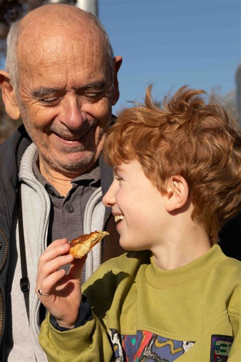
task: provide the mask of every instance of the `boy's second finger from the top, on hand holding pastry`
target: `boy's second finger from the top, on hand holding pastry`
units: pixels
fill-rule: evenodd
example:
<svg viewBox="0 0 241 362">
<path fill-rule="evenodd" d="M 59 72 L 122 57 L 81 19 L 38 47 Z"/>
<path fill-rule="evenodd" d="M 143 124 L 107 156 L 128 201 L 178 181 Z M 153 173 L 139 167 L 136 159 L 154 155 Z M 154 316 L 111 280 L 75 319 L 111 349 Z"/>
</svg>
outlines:
<svg viewBox="0 0 241 362">
<path fill-rule="evenodd" d="M 36 284 L 40 285 L 47 276 L 55 272 L 58 268 L 67 265 L 73 261 L 74 257 L 71 254 L 56 257 L 44 263 L 39 269 Z"/>
</svg>

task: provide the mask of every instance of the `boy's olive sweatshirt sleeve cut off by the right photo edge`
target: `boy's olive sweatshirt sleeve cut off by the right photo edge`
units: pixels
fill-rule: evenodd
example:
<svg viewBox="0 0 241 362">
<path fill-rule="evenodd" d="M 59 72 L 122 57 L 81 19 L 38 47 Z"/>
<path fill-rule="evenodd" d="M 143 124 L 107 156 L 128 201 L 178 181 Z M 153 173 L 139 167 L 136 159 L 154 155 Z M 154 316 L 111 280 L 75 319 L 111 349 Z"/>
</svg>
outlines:
<svg viewBox="0 0 241 362">
<path fill-rule="evenodd" d="M 228 362 L 241 360 L 241 285 L 234 289 L 228 306 L 228 314 L 233 329 L 233 343 Z"/>
</svg>

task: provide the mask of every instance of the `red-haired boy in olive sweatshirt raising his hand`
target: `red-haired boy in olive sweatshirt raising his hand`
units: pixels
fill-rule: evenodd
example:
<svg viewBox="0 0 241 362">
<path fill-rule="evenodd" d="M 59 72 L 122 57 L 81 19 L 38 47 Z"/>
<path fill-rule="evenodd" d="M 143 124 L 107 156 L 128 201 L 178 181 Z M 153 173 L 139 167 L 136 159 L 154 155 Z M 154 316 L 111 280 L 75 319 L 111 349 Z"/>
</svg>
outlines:
<svg viewBox="0 0 241 362">
<path fill-rule="evenodd" d="M 103 203 L 134 251 L 101 265 L 80 304 L 84 260 L 65 275 L 66 239 L 46 249 L 36 292 L 51 313 L 40 334 L 49 360 L 241 360 L 241 265 L 217 244 L 240 208 L 241 138 L 202 93 L 183 87 L 159 109 L 148 88 L 110 128 Z"/>
</svg>

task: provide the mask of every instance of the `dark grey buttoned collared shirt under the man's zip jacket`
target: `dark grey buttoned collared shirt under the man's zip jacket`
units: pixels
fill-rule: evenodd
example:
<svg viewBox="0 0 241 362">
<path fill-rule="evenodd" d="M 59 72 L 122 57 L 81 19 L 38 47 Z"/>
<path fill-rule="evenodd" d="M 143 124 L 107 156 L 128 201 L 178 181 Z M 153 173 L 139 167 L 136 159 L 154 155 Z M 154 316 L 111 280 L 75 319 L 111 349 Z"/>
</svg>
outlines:
<svg viewBox="0 0 241 362">
<path fill-rule="evenodd" d="M 38 167 L 38 153 L 33 170 L 37 180 L 44 186 L 51 201 L 48 244 L 53 240 L 67 238 L 71 240 L 83 234 L 84 209 L 92 193 L 100 187 L 100 168 L 97 166 L 88 174 L 71 181 L 72 188 L 66 197 L 45 179 Z"/>
</svg>

